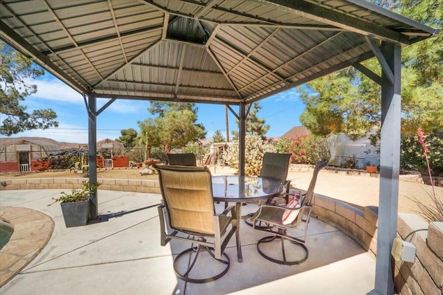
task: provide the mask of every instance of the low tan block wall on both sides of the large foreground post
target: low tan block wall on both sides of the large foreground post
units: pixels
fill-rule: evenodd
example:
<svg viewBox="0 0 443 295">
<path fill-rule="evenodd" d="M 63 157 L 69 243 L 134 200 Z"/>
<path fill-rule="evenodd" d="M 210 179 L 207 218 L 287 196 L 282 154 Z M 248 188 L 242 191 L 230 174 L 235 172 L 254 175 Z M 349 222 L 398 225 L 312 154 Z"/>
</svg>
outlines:
<svg viewBox="0 0 443 295">
<path fill-rule="evenodd" d="M 377 254 L 377 211 L 378 207 L 358 208 L 340 200 L 316 195 L 312 216 L 340 229 L 364 249 Z M 416 230 L 420 231 L 413 233 Z M 429 224 L 416 214 L 399 213 L 397 236 L 408 236 L 406 240 L 416 247 L 413 263 L 395 261 L 394 283 L 397 294 L 442 295 L 443 222 Z"/>
</svg>

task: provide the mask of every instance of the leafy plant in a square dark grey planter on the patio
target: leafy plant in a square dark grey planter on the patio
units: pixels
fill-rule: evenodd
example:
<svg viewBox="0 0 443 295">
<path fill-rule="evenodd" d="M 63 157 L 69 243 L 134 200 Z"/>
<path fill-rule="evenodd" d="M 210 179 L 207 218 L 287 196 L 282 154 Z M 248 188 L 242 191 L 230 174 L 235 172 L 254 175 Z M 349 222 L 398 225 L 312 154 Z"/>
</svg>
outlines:
<svg viewBox="0 0 443 295">
<path fill-rule="evenodd" d="M 53 198 L 60 202 L 66 227 L 79 227 L 86 225 L 89 220 L 89 195 L 96 192 L 100 183 L 90 186 L 89 181 L 83 182 L 82 189 L 72 189 L 70 193 L 62 191 L 62 196 Z M 48 204 L 48 206 L 51 206 Z"/>
</svg>

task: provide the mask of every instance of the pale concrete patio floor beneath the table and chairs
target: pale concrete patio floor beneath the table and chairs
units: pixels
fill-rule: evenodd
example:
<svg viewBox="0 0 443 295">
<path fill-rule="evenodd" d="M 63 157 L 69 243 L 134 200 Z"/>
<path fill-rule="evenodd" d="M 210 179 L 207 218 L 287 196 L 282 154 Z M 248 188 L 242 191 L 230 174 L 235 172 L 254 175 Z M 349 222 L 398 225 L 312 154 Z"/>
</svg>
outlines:
<svg viewBox="0 0 443 295">
<path fill-rule="evenodd" d="M 47 206 L 59 195 L 59 189 L 1 191 L 1 206 L 34 209 L 55 221 L 46 247 L 1 287 L 2 295 L 366 294 L 374 287 L 374 256 L 315 218 L 308 229 L 305 263 L 289 267 L 265 260 L 257 253 L 256 242 L 266 233 L 242 222 L 243 262 L 237 262 L 233 238 L 226 249 L 228 274 L 212 283 L 192 284 L 179 280 L 172 267 L 174 255 L 189 244 L 160 245 L 160 195 L 99 191 L 102 220 L 71 228 L 65 227 L 59 204 Z M 244 206 L 243 213 L 256 208 Z M 296 231 L 303 236 L 302 229 Z"/>
</svg>

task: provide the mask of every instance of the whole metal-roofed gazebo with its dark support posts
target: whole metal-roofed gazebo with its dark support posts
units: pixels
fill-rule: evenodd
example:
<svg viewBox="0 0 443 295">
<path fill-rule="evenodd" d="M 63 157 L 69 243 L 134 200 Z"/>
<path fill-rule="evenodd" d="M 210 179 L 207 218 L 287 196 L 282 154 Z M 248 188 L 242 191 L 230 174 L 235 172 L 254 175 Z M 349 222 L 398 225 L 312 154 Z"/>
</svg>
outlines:
<svg viewBox="0 0 443 295">
<path fill-rule="evenodd" d="M 243 174 L 245 120 L 253 102 L 348 66 L 368 75 L 381 85 L 382 114 L 371 294 L 392 294 L 401 48 L 438 30 L 361 0 L 3 0 L 0 8 L 1 39 L 83 97 L 91 167 L 97 117 L 116 99 L 228 106 L 240 122 Z M 381 77 L 361 64 L 372 57 L 381 64 Z M 100 109 L 98 97 L 109 99 Z M 91 184 L 96 180 L 91 169 Z"/>
</svg>

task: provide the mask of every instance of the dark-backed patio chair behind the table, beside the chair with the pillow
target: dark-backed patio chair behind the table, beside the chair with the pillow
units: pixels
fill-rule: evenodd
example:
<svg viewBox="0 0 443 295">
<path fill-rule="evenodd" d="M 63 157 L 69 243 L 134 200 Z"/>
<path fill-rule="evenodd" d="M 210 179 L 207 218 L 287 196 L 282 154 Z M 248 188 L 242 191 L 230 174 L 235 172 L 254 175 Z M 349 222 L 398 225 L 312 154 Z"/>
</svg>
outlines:
<svg viewBox="0 0 443 295">
<path fill-rule="evenodd" d="M 289 170 L 289 160 L 291 159 L 290 153 L 264 153 L 262 160 L 262 169 L 260 171 L 260 177 L 263 178 L 273 178 L 282 182 L 285 188 L 282 195 L 274 197 L 272 200 L 268 200 L 266 204 L 276 203 L 283 198 L 288 202 L 289 200 L 289 188 L 291 187 L 291 180 L 287 180 L 288 170 Z M 260 205 L 260 204 L 259 204 Z M 253 216 L 254 213 L 249 214 Z M 251 219 L 247 218 L 244 220 L 247 225 L 252 226 Z M 261 225 L 257 225 L 261 226 Z"/>
</svg>

